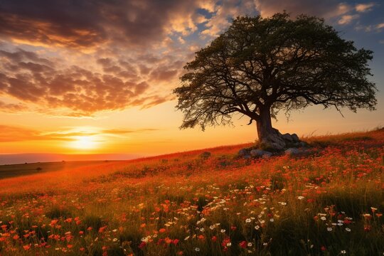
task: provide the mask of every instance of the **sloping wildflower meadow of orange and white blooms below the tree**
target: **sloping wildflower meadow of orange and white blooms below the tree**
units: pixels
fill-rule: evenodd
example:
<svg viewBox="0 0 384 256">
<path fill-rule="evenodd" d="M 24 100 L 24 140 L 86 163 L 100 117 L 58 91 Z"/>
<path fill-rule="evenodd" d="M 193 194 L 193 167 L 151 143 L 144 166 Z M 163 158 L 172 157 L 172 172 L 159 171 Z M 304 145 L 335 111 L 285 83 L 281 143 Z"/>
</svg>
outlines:
<svg viewBox="0 0 384 256">
<path fill-rule="evenodd" d="M 0 255 L 383 255 L 384 131 L 0 179 Z"/>
</svg>

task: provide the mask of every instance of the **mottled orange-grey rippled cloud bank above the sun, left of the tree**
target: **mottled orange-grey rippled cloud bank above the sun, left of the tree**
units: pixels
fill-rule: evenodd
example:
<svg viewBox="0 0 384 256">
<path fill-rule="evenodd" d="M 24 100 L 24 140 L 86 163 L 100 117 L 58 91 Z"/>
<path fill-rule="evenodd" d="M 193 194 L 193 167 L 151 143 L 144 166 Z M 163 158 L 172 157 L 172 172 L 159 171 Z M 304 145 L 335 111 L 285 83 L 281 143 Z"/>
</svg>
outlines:
<svg viewBox="0 0 384 256">
<path fill-rule="evenodd" d="M 0 95 L 37 104 L 49 111 L 64 108 L 69 116 L 90 116 L 95 112 L 141 105 L 149 107 L 169 99 L 169 93 L 150 88 L 138 77 L 137 68 L 122 60 L 98 59 L 104 73 L 78 65 L 63 68 L 25 50 L 13 53 L 0 50 L 0 60 Z M 156 59 L 147 55 L 145 61 L 156 62 Z M 158 68 L 154 66 L 148 79 L 153 82 L 171 80 L 181 65 L 181 61 L 175 61 Z M 6 107 L 22 109 L 21 105 L 3 104 L 3 108 Z"/>
</svg>

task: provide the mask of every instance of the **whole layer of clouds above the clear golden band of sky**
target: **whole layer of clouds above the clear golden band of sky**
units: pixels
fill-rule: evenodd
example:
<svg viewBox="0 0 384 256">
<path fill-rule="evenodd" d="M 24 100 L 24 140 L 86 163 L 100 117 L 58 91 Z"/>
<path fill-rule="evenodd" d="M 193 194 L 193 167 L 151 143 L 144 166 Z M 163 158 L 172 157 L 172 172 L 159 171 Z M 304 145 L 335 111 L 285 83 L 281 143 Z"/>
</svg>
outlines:
<svg viewBox="0 0 384 256">
<path fill-rule="evenodd" d="M 337 0 L 2 0 L 0 97 L 7 100 L 0 98 L 0 111 L 82 117 L 151 107 L 173 99 L 184 63 L 235 16 L 285 9 L 344 26 L 374 7 Z"/>
</svg>

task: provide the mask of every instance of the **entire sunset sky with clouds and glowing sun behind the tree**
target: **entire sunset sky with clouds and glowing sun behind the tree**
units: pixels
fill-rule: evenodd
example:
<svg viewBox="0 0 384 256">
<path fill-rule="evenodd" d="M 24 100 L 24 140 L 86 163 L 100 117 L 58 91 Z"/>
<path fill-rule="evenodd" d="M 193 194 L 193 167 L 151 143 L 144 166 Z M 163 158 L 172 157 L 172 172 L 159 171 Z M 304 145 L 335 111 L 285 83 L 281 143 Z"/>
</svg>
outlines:
<svg viewBox="0 0 384 256">
<path fill-rule="evenodd" d="M 183 65 L 236 16 L 323 17 L 373 50 L 377 110 L 307 107 L 274 127 L 301 137 L 384 126 L 384 1 L 1 0 L 0 154 L 154 155 L 255 142 L 255 124 L 183 129 Z"/>
</svg>

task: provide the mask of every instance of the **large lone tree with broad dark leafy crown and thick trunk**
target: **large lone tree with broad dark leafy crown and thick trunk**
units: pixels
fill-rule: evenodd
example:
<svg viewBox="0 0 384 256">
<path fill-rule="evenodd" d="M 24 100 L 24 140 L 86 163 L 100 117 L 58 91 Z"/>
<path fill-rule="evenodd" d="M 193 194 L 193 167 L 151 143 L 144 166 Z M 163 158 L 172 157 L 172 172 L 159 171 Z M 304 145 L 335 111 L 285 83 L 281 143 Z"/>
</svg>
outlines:
<svg viewBox="0 0 384 256">
<path fill-rule="evenodd" d="M 271 122 L 279 110 L 375 109 L 375 84 L 367 79 L 372 54 L 340 38 L 322 18 L 292 20 L 285 12 L 235 18 L 184 66 L 174 90 L 184 114 L 181 128 L 228 124 L 239 112 L 256 122 L 260 142 L 282 149 L 282 134 Z"/>
</svg>

